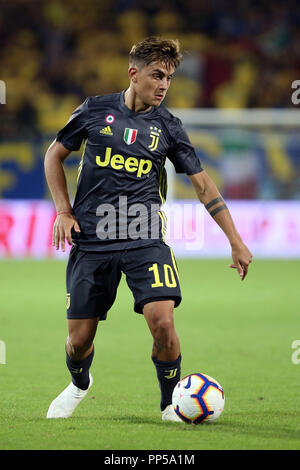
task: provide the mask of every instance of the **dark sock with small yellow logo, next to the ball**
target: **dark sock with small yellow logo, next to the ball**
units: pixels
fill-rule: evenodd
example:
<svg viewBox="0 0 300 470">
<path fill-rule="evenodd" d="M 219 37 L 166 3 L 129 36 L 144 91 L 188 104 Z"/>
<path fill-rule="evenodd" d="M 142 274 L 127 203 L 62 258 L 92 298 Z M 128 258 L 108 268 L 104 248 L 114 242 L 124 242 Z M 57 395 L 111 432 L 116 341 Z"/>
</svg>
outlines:
<svg viewBox="0 0 300 470">
<path fill-rule="evenodd" d="M 181 372 L 181 354 L 175 361 L 159 361 L 152 357 L 156 368 L 156 374 L 161 392 L 160 409 L 163 411 L 172 403 L 172 394 L 175 385 L 180 380 Z"/>
</svg>

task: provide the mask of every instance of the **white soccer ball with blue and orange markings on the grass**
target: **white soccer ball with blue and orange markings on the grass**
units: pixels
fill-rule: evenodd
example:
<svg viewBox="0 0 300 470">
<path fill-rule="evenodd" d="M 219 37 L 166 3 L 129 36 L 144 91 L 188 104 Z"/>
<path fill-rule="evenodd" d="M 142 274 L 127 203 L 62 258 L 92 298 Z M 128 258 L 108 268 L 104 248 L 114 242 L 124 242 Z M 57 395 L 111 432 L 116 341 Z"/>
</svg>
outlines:
<svg viewBox="0 0 300 470">
<path fill-rule="evenodd" d="M 211 423 L 222 413 L 225 395 L 221 385 L 209 375 L 190 374 L 175 386 L 172 404 L 186 423 Z"/>
</svg>

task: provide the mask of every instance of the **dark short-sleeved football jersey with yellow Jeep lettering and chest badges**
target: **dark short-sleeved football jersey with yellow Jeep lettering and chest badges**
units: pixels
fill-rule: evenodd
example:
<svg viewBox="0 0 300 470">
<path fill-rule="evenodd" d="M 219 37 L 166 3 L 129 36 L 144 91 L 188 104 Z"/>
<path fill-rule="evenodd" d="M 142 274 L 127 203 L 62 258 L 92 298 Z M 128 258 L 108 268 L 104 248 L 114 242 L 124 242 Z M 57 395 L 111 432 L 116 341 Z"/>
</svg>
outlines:
<svg viewBox="0 0 300 470">
<path fill-rule="evenodd" d="M 163 106 L 131 111 L 124 91 L 87 98 L 57 134 L 83 155 L 73 212 L 86 251 L 137 248 L 164 238 L 166 158 L 177 173 L 193 175 L 201 163 L 181 121 Z"/>
</svg>

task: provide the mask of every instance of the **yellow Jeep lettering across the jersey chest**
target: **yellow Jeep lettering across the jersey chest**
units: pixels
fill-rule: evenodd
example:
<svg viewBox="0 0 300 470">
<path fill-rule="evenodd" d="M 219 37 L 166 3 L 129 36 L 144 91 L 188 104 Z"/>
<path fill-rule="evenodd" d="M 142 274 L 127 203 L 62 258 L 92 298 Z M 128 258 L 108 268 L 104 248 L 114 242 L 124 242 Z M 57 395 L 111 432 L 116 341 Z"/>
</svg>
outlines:
<svg viewBox="0 0 300 470">
<path fill-rule="evenodd" d="M 106 147 L 104 160 L 100 155 L 96 156 L 96 163 L 98 166 L 108 166 L 114 170 L 122 170 L 123 168 L 129 173 L 136 173 L 136 176 L 140 178 L 143 175 L 147 175 L 152 168 L 151 160 L 144 160 L 143 158 L 136 157 L 123 157 L 123 155 L 111 154 L 111 147 Z"/>
</svg>

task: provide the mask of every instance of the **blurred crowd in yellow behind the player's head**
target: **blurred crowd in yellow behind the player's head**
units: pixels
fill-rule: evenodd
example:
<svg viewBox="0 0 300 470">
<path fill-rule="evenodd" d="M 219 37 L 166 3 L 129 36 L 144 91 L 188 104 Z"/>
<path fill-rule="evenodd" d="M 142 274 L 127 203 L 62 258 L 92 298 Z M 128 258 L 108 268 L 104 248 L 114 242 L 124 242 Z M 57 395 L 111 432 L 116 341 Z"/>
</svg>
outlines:
<svg viewBox="0 0 300 470">
<path fill-rule="evenodd" d="M 53 134 L 86 96 L 128 86 L 128 52 L 178 38 L 166 105 L 291 107 L 300 78 L 298 0 L 0 0 L 0 137 Z M 3 113 L 3 110 L 2 110 Z"/>
</svg>

